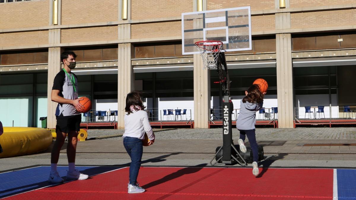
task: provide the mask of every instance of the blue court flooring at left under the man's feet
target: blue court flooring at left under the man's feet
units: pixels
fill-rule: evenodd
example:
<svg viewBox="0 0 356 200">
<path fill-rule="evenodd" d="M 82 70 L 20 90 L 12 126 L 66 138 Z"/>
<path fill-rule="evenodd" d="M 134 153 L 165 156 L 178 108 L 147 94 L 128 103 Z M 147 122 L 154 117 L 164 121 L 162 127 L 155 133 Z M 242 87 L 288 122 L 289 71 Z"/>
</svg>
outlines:
<svg viewBox="0 0 356 200">
<path fill-rule="evenodd" d="M 89 176 L 120 169 L 121 167 L 76 167 Z M 53 185 L 48 182 L 51 167 L 40 166 L 0 174 L 0 198 Z M 58 166 L 59 175 L 66 181 L 67 166 Z"/>
</svg>

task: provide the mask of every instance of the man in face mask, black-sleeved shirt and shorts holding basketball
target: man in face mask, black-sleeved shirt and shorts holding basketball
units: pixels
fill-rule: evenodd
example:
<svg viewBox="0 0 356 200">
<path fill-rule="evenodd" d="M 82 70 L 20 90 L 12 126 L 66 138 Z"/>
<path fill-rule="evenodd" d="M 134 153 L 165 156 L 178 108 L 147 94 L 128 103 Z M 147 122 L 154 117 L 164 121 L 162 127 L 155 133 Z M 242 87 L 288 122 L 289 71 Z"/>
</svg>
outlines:
<svg viewBox="0 0 356 200">
<path fill-rule="evenodd" d="M 79 111 L 83 106 L 78 99 L 78 79 L 70 70 L 75 68 L 75 55 L 72 51 L 65 51 L 61 54 L 61 62 L 64 68 L 54 77 L 51 100 L 57 102 L 56 108 L 56 133 L 57 138 L 51 154 L 51 172 L 48 181 L 51 183 L 62 183 L 64 180 L 59 176 L 57 163 L 59 152 L 68 134 L 67 157 L 68 173 L 67 180 L 84 180 L 88 175 L 81 174 L 75 169 L 75 151 L 77 148 L 77 137 L 82 116 Z"/>
</svg>

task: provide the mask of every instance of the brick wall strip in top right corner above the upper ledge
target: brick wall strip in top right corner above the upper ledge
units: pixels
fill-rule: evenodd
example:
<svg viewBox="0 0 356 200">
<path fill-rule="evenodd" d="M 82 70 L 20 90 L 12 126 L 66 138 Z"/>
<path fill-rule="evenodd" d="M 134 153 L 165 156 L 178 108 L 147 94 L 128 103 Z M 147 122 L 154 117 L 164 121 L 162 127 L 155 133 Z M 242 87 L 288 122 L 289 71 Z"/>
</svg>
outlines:
<svg viewBox="0 0 356 200">
<path fill-rule="evenodd" d="M 290 0 L 290 7 L 352 4 L 355 0 Z"/>
</svg>

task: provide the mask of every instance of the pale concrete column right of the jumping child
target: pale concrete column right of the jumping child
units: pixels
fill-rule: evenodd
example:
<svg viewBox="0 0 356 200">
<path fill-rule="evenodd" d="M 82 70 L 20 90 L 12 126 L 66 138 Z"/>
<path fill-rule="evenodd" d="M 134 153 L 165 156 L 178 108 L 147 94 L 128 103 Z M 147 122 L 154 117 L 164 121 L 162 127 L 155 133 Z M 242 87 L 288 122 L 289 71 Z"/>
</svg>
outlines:
<svg viewBox="0 0 356 200">
<path fill-rule="evenodd" d="M 293 65 L 290 33 L 276 34 L 278 127 L 293 128 Z"/>
</svg>

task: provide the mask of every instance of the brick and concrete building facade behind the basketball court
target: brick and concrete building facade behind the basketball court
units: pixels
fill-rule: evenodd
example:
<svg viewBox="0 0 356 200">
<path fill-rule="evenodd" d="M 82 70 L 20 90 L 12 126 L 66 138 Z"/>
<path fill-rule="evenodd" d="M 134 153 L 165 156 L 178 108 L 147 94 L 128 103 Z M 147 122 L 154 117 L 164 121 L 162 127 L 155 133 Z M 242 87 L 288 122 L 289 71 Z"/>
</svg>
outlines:
<svg viewBox="0 0 356 200">
<path fill-rule="evenodd" d="M 304 106 L 326 106 L 339 118 L 356 106 L 354 0 L 0 0 L 0 121 L 55 127 L 49 98 L 60 54 L 78 54 L 79 94 L 94 109 L 118 110 L 140 90 L 156 119 L 167 107 L 187 108 L 207 128 L 219 107 L 218 75 L 199 54 L 182 55 L 181 14 L 251 6 L 252 50 L 229 52 L 234 107 L 256 78 L 269 83 L 265 107 L 293 128 Z"/>
</svg>

